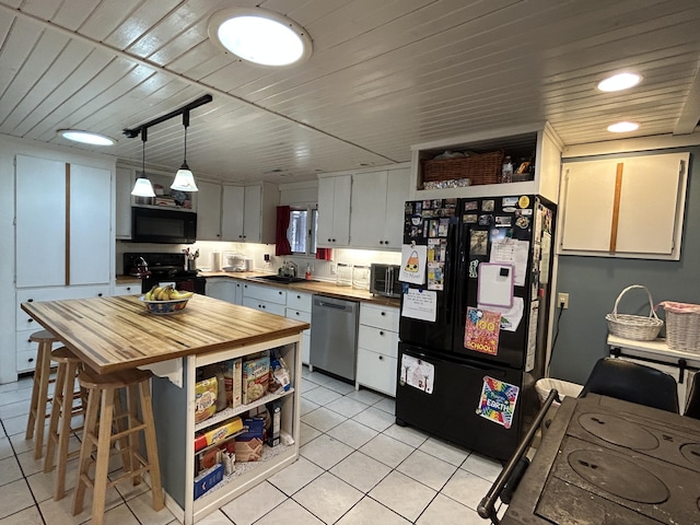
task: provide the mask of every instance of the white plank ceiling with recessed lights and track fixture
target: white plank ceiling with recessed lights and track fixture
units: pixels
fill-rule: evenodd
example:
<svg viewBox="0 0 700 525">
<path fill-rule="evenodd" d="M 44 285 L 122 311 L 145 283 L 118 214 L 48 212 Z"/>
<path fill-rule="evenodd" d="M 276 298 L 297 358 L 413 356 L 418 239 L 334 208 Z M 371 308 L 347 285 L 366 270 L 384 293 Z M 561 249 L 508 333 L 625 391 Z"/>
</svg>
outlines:
<svg viewBox="0 0 700 525">
<path fill-rule="evenodd" d="M 265 9 L 314 43 L 296 68 L 261 68 L 208 38 L 225 7 Z M 191 112 L 187 161 L 221 180 L 292 182 L 410 159 L 410 145 L 548 120 L 568 145 L 691 131 L 700 120 L 698 0 L 0 0 L 0 132 L 122 135 Z M 606 74 L 644 77 L 600 93 Z M 147 163 L 182 163 L 179 118 L 149 129 Z M 280 172 L 282 175 L 280 175 Z M 283 180 L 282 180 L 283 179 Z"/>
</svg>

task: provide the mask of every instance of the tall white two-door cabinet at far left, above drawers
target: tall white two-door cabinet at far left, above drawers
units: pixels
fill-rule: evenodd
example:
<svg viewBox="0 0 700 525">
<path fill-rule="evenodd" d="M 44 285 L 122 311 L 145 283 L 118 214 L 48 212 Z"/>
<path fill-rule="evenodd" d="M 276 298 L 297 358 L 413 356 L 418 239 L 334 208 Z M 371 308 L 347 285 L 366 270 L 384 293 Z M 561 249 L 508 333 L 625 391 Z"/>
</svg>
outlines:
<svg viewBox="0 0 700 525">
<path fill-rule="evenodd" d="M 109 283 L 112 172 L 16 155 L 15 175 L 16 287 Z"/>
</svg>

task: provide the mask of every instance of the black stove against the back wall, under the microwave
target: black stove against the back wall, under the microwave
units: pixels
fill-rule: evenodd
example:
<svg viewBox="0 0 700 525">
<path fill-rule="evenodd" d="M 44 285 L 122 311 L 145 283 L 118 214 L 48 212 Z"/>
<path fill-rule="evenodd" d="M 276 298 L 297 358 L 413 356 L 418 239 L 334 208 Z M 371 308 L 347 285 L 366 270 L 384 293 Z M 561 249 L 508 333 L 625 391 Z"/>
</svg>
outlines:
<svg viewBox="0 0 700 525">
<path fill-rule="evenodd" d="M 199 277 L 199 270 L 186 269 L 185 254 L 173 253 L 125 253 L 124 273 L 133 275 L 141 258 L 148 265 L 149 275 L 141 277 L 141 292 L 148 292 L 153 285 L 172 283 L 177 290 L 205 294 L 207 279 Z"/>
</svg>

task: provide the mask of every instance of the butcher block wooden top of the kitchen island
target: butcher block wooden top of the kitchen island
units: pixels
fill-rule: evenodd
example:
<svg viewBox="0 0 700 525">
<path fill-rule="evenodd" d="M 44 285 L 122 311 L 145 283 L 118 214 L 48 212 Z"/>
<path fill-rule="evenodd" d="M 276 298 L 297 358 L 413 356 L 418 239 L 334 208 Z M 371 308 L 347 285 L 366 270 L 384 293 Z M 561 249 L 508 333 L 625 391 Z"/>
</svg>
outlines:
<svg viewBox="0 0 700 525">
<path fill-rule="evenodd" d="M 195 294 L 174 314 L 136 295 L 22 303 L 22 310 L 103 374 L 294 336 L 308 323 Z"/>
</svg>

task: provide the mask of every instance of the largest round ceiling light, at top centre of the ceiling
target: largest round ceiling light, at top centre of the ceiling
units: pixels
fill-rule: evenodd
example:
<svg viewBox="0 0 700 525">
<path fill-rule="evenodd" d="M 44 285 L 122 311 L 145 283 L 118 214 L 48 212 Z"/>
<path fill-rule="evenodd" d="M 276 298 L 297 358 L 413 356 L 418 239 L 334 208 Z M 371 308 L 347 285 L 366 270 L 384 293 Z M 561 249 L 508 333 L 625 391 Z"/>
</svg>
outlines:
<svg viewBox="0 0 700 525">
<path fill-rule="evenodd" d="M 209 20 L 208 33 L 224 51 L 261 66 L 295 66 L 312 54 L 312 39 L 304 27 L 265 9 L 219 11 Z"/>
</svg>

